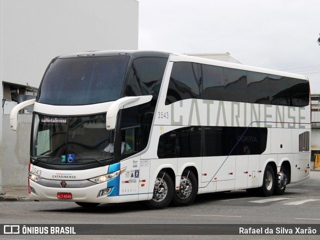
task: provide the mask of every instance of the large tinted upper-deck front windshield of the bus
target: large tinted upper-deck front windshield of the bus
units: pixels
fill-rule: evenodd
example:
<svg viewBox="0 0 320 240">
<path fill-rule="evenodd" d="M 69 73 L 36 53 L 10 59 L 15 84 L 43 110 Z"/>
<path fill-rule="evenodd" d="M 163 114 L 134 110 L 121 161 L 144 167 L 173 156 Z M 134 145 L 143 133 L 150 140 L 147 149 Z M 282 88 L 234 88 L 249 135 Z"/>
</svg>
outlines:
<svg viewBox="0 0 320 240">
<path fill-rule="evenodd" d="M 37 94 L 40 103 L 86 105 L 120 98 L 129 56 L 53 59 Z"/>
</svg>

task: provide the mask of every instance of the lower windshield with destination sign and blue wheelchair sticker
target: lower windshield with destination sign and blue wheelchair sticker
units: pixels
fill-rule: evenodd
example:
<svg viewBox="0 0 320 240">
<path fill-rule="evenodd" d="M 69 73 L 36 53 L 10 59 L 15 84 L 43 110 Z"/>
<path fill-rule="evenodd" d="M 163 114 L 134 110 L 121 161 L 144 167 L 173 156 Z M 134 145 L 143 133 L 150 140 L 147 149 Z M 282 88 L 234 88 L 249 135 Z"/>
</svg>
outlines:
<svg viewBox="0 0 320 240">
<path fill-rule="evenodd" d="M 85 164 L 109 159 L 113 130 L 106 130 L 105 113 L 88 116 L 34 114 L 31 158 L 52 164 Z"/>
</svg>

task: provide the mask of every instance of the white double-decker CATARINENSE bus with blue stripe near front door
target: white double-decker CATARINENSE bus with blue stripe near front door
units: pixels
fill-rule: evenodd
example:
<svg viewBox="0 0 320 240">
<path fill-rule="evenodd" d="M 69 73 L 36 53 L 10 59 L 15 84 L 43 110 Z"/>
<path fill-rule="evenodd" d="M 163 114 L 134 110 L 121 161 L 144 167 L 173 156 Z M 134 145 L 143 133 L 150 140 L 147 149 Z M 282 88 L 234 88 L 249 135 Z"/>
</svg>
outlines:
<svg viewBox="0 0 320 240">
<path fill-rule="evenodd" d="M 305 76 L 157 51 L 55 57 L 34 104 L 29 196 L 81 206 L 190 204 L 309 177 Z"/>
</svg>

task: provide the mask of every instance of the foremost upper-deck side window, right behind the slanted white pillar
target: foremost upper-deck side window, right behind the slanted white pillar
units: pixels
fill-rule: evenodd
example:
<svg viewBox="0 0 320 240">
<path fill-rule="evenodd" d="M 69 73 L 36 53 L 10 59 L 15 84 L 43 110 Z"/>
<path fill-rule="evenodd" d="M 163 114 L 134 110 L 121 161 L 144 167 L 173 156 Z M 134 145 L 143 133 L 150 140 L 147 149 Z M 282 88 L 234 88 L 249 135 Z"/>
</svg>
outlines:
<svg viewBox="0 0 320 240">
<path fill-rule="evenodd" d="M 199 97 L 197 65 L 193 62 L 173 63 L 165 104 Z"/>
</svg>

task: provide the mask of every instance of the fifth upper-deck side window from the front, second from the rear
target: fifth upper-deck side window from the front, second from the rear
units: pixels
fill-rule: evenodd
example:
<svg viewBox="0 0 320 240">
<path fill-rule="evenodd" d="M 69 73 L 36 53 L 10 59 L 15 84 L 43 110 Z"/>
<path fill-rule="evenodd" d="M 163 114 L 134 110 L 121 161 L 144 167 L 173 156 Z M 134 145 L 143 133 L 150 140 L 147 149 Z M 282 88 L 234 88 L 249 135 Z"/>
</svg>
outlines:
<svg viewBox="0 0 320 240">
<path fill-rule="evenodd" d="M 273 105 L 288 105 L 285 76 L 268 74 L 268 90 L 270 103 Z"/>
</svg>

